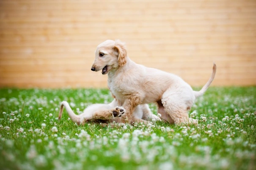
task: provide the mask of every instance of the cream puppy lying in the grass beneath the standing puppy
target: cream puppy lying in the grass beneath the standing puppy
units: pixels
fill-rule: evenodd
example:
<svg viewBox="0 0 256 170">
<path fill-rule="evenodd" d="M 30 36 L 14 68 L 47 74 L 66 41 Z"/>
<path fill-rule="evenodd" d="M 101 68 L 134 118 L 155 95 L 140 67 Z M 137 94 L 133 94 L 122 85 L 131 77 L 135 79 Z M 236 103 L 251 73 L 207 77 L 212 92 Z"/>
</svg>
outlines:
<svg viewBox="0 0 256 170">
<path fill-rule="evenodd" d="M 61 120 L 61 116 L 63 113 L 63 107 L 65 106 L 69 117 L 73 122 L 76 122 L 77 125 L 84 125 L 86 122 L 94 121 L 94 122 L 103 122 L 103 123 L 125 123 L 124 119 L 121 119 L 121 116 L 125 115 L 125 109 L 122 106 L 118 106 L 118 101 L 114 99 L 110 104 L 92 104 L 88 106 L 82 114 L 75 114 L 70 108 L 68 102 L 62 101 L 60 112 L 59 112 L 59 120 Z M 159 117 L 152 114 L 149 106 L 147 104 L 138 105 L 135 108 L 134 116 L 143 120 L 160 120 Z"/>
</svg>

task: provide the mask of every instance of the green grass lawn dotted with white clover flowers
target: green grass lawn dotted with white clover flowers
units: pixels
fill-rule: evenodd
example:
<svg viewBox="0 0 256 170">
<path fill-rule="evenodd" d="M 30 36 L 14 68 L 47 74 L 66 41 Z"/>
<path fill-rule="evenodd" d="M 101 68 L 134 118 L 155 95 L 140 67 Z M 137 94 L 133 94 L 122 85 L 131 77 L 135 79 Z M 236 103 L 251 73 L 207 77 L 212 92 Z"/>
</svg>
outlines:
<svg viewBox="0 0 256 170">
<path fill-rule="evenodd" d="M 112 101 L 108 90 L 0 89 L 1 169 L 256 169 L 256 87 L 209 88 L 190 117 L 198 126 L 155 122 L 122 128 L 77 126 L 61 101 L 79 113 Z M 156 107 L 151 104 L 154 114 Z M 58 132 L 53 132 L 56 127 Z"/>
</svg>

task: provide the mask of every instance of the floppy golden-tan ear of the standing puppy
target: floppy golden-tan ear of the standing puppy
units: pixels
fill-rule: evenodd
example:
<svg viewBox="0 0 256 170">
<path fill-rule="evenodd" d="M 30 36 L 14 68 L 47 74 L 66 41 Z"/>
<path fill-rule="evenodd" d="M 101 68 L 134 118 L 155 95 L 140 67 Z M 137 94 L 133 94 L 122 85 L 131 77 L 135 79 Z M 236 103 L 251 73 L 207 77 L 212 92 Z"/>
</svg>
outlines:
<svg viewBox="0 0 256 170">
<path fill-rule="evenodd" d="M 118 65 L 124 66 L 124 64 L 127 62 L 127 50 L 124 43 L 122 43 L 120 40 L 116 40 L 113 49 L 118 54 Z"/>
</svg>

